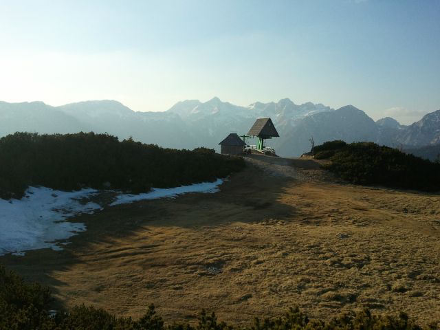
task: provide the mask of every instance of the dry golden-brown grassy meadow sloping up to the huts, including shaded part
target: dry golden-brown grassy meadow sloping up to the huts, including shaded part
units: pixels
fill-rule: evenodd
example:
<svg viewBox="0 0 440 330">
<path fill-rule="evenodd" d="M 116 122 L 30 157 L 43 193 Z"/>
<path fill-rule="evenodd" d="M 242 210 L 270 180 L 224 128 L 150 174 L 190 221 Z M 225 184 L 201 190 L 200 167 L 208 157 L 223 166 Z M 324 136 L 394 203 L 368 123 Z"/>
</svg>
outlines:
<svg viewBox="0 0 440 330">
<path fill-rule="evenodd" d="M 248 157 L 215 194 L 104 208 L 65 250 L 3 256 L 55 308 L 248 324 L 299 305 L 440 320 L 440 195 L 338 182 L 309 159 Z"/>
</svg>

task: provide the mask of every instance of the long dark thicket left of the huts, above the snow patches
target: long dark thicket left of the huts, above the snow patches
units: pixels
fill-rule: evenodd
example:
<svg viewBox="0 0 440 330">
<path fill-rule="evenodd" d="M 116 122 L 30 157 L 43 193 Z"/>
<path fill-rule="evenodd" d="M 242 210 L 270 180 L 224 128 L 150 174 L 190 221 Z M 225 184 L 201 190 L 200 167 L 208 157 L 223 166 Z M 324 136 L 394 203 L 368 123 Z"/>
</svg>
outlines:
<svg viewBox="0 0 440 330">
<path fill-rule="evenodd" d="M 213 181 L 243 168 L 240 157 L 160 148 L 107 134 L 14 133 L 0 139 L 0 197 L 22 197 L 30 186 L 148 191 Z M 105 184 L 109 183 L 109 184 Z"/>
</svg>

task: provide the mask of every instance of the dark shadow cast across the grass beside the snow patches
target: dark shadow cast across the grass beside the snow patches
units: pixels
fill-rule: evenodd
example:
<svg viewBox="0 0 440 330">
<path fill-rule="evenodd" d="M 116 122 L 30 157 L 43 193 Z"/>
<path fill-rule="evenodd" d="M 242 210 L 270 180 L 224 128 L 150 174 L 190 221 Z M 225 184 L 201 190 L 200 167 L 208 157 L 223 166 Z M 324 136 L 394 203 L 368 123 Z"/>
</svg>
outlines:
<svg viewBox="0 0 440 330">
<path fill-rule="evenodd" d="M 289 184 L 292 179 L 267 177 L 259 168 L 248 166 L 225 181 L 221 191 L 215 194 L 192 193 L 175 199 L 138 201 L 107 206 L 95 214 L 83 214 L 71 221 L 85 223 L 87 231 L 70 238 L 64 250 L 43 249 L 26 252 L 25 256 L 1 256 L 0 263 L 27 281 L 50 287 L 54 296 L 62 296 L 61 288 L 69 283 L 63 281 L 60 273 L 69 272 L 75 265 L 84 265 L 85 276 L 90 276 L 87 266 L 94 260 L 131 258 L 132 254 L 146 258 L 149 253 L 154 253 L 151 251 L 157 245 L 148 242 L 148 238 L 142 245 L 135 245 L 134 251 L 118 245 L 118 241 L 129 241 L 140 230 L 182 228 L 203 231 L 228 223 L 259 223 L 292 216 L 295 208 L 278 200 Z M 100 247 L 98 252 L 97 246 Z M 96 290 L 99 292 L 99 288 Z M 71 291 L 69 295 L 75 293 Z M 64 309 L 65 305 L 56 300 L 54 308 Z"/>
</svg>

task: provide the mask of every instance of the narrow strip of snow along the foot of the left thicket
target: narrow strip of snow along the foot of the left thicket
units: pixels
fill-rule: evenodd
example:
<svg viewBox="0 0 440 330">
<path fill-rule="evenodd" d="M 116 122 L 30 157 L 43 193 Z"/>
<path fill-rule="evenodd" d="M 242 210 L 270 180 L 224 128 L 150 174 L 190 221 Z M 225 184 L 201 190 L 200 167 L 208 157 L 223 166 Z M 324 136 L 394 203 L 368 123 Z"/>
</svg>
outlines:
<svg viewBox="0 0 440 330">
<path fill-rule="evenodd" d="M 125 203 L 133 203 L 133 201 L 142 201 L 145 199 L 157 199 L 157 198 L 174 198 L 178 195 L 185 194 L 187 192 L 207 192 L 214 193 L 219 191 L 218 186 L 223 183 L 222 179 L 217 179 L 214 182 L 202 182 L 201 184 L 191 184 L 190 186 L 180 186 L 175 188 L 162 188 L 156 189 L 152 188 L 151 192 L 146 192 L 137 195 L 119 195 L 116 201 L 113 201 L 110 205 L 119 205 Z"/>
</svg>

